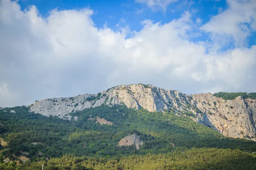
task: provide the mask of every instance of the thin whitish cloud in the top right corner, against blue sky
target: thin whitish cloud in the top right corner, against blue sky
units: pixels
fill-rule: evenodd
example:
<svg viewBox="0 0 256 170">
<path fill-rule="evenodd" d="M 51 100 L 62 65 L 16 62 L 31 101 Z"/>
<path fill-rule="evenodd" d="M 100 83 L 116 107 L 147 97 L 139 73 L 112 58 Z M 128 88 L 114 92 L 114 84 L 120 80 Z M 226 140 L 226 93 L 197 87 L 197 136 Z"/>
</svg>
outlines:
<svg viewBox="0 0 256 170">
<path fill-rule="evenodd" d="M 236 47 L 247 45 L 247 37 L 256 31 L 255 0 L 227 0 L 229 8 L 213 16 L 201 27 L 212 34 L 212 40 L 221 47 L 235 42 Z"/>
</svg>

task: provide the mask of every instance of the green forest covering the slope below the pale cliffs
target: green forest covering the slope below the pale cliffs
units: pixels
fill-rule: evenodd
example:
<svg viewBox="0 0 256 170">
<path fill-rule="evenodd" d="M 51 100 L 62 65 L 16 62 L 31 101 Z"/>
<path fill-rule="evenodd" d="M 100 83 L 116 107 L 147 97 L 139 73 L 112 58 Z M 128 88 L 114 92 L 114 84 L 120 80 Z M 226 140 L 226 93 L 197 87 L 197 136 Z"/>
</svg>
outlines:
<svg viewBox="0 0 256 170">
<path fill-rule="evenodd" d="M 22 106 L 2 109 L 0 115 L 0 137 L 8 143 L 0 153 L 25 170 L 40 169 L 42 163 L 46 170 L 256 167 L 256 142 L 224 137 L 172 111 L 99 106 L 72 113 L 79 118 L 68 121 Z M 97 116 L 113 125 L 100 125 Z M 129 134 L 140 136 L 143 147 L 117 146 Z M 21 156 L 29 161 L 23 163 Z"/>
</svg>

